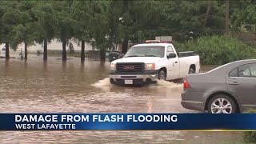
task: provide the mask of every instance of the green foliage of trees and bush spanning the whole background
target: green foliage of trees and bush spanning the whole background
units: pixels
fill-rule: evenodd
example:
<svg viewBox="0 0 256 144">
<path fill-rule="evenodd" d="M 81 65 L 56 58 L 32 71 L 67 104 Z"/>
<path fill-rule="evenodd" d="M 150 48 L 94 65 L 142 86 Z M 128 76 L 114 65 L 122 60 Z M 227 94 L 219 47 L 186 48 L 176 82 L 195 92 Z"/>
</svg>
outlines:
<svg viewBox="0 0 256 144">
<path fill-rule="evenodd" d="M 254 50 L 232 39 L 234 43 L 227 42 L 230 38 L 201 38 L 221 35 L 225 28 L 225 2 L 211 1 L 206 19 L 209 2 L 1 1 L 0 43 L 10 42 L 14 47 L 20 42 L 30 45 L 50 42 L 53 38 L 66 43 L 70 39 L 76 39 L 78 43 L 94 39 L 93 45 L 106 50 L 114 49 L 117 44 L 128 40 L 137 43 L 155 36 L 171 35 L 177 42 L 200 38 L 196 43 L 204 48 L 199 49 L 194 42 L 178 47 L 195 49 L 202 54 L 203 63 L 221 64 L 251 56 L 248 54 L 253 54 Z M 230 4 L 232 28 L 241 30 L 243 23 L 255 24 L 254 1 L 239 0 Z M 223 45 L 216 44 L 216 41 Z"/>
</svg>

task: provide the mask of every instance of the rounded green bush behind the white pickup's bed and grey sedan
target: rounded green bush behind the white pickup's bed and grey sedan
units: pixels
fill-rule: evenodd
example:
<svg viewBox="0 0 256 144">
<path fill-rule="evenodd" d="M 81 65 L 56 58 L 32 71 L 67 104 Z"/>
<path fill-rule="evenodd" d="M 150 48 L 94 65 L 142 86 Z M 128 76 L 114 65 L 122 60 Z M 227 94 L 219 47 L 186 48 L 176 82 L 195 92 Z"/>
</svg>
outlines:
<svg viewBox="0 0 256 144">
<path fill-rule="evenodd" d="M 174 42 L 178 51 L 195 51 L 202 64 L 222 65 L 236 60 L 255 58 L 256 49 L 230 36 L 206 36 L 197 41 Z"/>
</svg>

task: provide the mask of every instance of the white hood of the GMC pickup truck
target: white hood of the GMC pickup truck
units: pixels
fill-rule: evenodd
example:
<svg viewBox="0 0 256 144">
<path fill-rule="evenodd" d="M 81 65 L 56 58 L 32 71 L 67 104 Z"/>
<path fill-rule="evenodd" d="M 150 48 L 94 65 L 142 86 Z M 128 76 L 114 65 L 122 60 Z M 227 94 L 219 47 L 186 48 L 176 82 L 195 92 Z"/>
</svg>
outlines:
<svg viewBox="0 0 256 144">
<path fill-rule="evenodd" d="M 161 59 L 159 57 L 130 57 L 130 58 L 120 58 L 114 60 L 111 63 L 118 63 L 118 62 L 144 62 L 144 63 L 154 63 L 158 62 Z"/>
</svg>

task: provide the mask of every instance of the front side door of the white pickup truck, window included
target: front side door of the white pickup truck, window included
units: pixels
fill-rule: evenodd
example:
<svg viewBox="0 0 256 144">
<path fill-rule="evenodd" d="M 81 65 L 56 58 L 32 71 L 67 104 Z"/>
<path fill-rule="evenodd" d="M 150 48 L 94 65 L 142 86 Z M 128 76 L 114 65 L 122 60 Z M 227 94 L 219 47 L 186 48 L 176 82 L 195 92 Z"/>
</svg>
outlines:
<svg viewBox="0 0 256 144">
<path fill-rule="evenodd" d="M 172 46 L 168 46 L 166 49 L 166 56 L 170 53 L 174 53 L 174 49 Z M 176 58 L 168 58 L 167 64 L 167 80 L 179 78 L 179 63 L 178 63 L 178 56 Z"/>
</svg>

